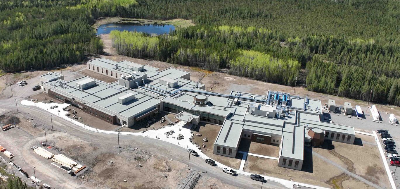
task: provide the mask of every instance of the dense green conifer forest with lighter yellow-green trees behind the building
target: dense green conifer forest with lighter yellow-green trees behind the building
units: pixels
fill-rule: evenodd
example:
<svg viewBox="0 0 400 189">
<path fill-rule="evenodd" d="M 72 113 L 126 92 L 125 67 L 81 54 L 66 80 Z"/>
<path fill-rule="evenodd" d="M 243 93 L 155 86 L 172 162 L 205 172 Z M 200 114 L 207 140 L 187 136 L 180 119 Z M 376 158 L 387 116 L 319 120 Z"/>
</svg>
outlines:
<svg viewBox="0 0 400 189">
<path fill-rule="evenodd" d="M 396 0 L 4 0 L 0 11 L 6 72 L 101 54 L 91 27 L 99 17 L 183 18 L 196 25 L 161 36 L 112 32 L 113 46 L 126 56 L 292 86 L 305 72 L 308 90 L 400 105 Z"/>
</svg>

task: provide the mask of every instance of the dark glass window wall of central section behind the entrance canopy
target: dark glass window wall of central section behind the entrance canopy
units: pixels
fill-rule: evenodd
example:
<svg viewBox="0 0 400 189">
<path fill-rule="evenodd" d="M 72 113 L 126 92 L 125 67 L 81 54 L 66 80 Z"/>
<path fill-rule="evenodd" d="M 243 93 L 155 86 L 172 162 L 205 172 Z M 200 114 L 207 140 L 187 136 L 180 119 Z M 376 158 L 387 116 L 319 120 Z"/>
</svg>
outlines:
<svg viewBox="0 0 400 189">
<path fill-rule="evenodd" d="M 214 115 L 211 113 L 188 110 L 186 108 L 182 108 L 180 106 L 169 104 L 169 103 L 163 103 L 162 110 L 166 111 L 166 112 L 174 113 L 174 114 L 178 114 L 182 111 L 186 111 L 193 115 L 200 115 L 200 121 L 214 123 L 216 125 L 224 124 L 224 120 L 225 120 L 225 117 L 222 117 L 222 116 Z"/>
</svg>

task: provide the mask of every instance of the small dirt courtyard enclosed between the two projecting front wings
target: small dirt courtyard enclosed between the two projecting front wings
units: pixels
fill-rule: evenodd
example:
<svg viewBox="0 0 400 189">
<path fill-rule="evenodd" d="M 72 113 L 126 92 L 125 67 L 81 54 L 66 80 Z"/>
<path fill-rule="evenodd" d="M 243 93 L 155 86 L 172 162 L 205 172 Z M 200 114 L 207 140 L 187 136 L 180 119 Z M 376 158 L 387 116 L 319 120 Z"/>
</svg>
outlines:
<svg viewBox="0 0 400 189">
<path fill-rule="evenodd" d="M 239 150 L 258 155 L 279 157 L 279 146 L 256 143 L 250 141 L 250 139 L 242 139 L 239 144 Z"/>
</svg>

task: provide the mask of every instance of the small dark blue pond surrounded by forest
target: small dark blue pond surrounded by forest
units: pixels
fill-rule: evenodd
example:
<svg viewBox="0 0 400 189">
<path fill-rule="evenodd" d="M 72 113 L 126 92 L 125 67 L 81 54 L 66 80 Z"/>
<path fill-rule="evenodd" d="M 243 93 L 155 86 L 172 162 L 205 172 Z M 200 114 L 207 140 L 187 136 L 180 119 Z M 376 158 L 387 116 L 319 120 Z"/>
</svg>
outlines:
<svg viewBox="0 0 400 189">
<path fill-rule="evenodd" d="M 109 23 L 99 26 L 96 35 L 109 34 L 112 30 L 144 32 L 149 34 L 168 34 L 175 30 L 175 26 L 170 24 L 139 24 L 139 23 Z"/>
</svg>

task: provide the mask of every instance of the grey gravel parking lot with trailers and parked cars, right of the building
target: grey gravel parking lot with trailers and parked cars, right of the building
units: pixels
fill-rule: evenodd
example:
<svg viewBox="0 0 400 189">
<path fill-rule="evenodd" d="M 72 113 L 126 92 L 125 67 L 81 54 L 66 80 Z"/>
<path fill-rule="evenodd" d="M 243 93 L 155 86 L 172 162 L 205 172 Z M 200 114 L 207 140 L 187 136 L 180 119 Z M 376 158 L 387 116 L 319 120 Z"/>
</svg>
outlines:
<svg viewBox="0 0 400 189">
<path fill-rule="evenodd" d="M 355 105 L 353 105 L 354 107 Z M 377 131 L 379 129 L 387 130 L 388 133 L 391 135 L 391 139 L 393 139 L 394 143 L 400 142 L 400 132 L 398 132 L 398 129 L 400 129 L 399 124 L 393 124 L 390 123 L 389 115 L 392 112 L 388 111 L 381 111 L 379 109 L 379 106 L 377 106 L 378 111 L 380 113 L 380 121 L 375 122 L 373 121 L 374 119 L 371 116 L 370 109 L 367 111 L 367 107 L 361 107 L 362 111 L 364 112 L 364 117 L 362 119 L 357 119 L 355 116 L 348 117 L 347 115 L 344 115 L 344 113 L 341 113 L 339 115 L 330 113 L 330 119 L 333 121 L 333 123 L 337 124 L 342 124 L 342 125 L 347 125 L 354 127 L 356 131 L 362 131 L 366 133 L 371 133 L 372 131 Z M 395 111 L 393 111 L 394 113 Z M 324 111 L 324 113 L 327 113 L 327 111 Z M 354 111 L 353 111 L 354 115 Z M 395 115 L 397 119 L 399 119 L 398 115 Z M 379 134 L 378 134 L 379 136 Z M 380 144 L 382 145 L 382 139 L 381 137 L 378 137 L 380 140 Z M 385 151 L 385 146 L 382 145 L 382 149 Z M 399 152 L 400 148 L 398 145 L 394 146 L 394 149 Z M 390 153 L 386 153 L 385 156 L 387 157 Z M 390 165 L 390 159 L 386 159 L 386 161 L 389 164 L 389 169 L 392 172 L 394 182 L 396 183 L 396 186 L 400 185 L 400 173 L 396 173 L 397 167 L 396 166 L 391 166 Z M 400 171 L 398 171 L 400 172 Z"/>
</svg>

